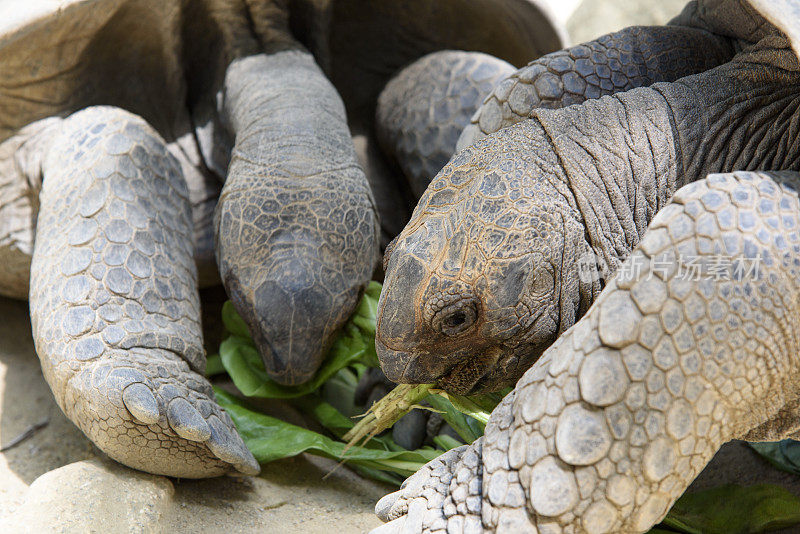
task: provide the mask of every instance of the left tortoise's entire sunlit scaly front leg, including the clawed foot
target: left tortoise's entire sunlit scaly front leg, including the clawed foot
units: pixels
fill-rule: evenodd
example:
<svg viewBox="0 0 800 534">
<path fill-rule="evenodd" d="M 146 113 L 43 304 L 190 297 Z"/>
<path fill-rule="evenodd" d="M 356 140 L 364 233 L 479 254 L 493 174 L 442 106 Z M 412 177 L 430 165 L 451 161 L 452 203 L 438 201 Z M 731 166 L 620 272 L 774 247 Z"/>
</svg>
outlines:
<svg viewBox="0 0 800 534">
<path fill-rule="evenodd" d="M 203 377 L 188 191 L 163 139 L 87 108 L 64 120 L 43 175 L 30 308 L 61 409 L 136 469 L 258 473 Z"/>
</svg>

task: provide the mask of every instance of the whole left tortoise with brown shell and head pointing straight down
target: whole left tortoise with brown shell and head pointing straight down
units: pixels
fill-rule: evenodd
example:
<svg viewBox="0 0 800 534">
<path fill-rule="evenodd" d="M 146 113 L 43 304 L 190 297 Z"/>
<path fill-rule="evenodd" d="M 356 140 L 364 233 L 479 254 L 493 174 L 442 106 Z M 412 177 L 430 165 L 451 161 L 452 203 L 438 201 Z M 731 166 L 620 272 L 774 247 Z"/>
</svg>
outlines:
<svg viewBox="0 0 800 534">
<path fill-rule="evenodd" d="M 30 296 L 59 406 L 129 466 L 257 472 L 203 377 L 198 273 L 296 384 L 378 254 L 345 108 L 307 50 L 368 129 L 422 54 L 523 64 L 560 39 L 528 0 L 0 3 L 0 294 Z"/>
</svg>

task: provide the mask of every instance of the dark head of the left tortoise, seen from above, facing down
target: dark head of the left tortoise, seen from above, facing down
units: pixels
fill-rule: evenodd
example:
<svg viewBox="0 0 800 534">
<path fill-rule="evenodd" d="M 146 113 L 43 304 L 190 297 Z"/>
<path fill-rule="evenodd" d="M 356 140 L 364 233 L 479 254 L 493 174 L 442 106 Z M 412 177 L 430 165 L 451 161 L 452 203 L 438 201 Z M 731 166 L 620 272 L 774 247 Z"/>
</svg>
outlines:
<svg viewBox="0 0 800 534">
<path fill-rule="evenodd" d="M 222 281 L 281 384 L 314 376 L 372 275 L 377 218 L 355 172 L 299 191 L 227 191 L 217 208 Z"/>
</svg>

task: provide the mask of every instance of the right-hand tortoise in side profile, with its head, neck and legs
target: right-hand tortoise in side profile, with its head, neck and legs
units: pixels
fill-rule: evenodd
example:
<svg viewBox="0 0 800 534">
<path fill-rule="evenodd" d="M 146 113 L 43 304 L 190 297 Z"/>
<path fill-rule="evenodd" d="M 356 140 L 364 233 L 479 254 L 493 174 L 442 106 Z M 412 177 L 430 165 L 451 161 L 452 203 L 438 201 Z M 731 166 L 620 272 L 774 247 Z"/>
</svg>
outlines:
<svg viewBox="0 0 800 534">
<path fill-rule="evenodd" d="M 654 43 L 705 56 L 520 107 L 434 179 L 388 260 L 382 367 L 459 393 L 519 381 L 482 439 L 378 503 L 376 532 L 646 532 L 724 442 L 798 436 L 798 20 L 796 0 L 693 2 L 616 34 L 632 50 L 541 58 L 588 87 L 672 57 Z"/>
</svg>

